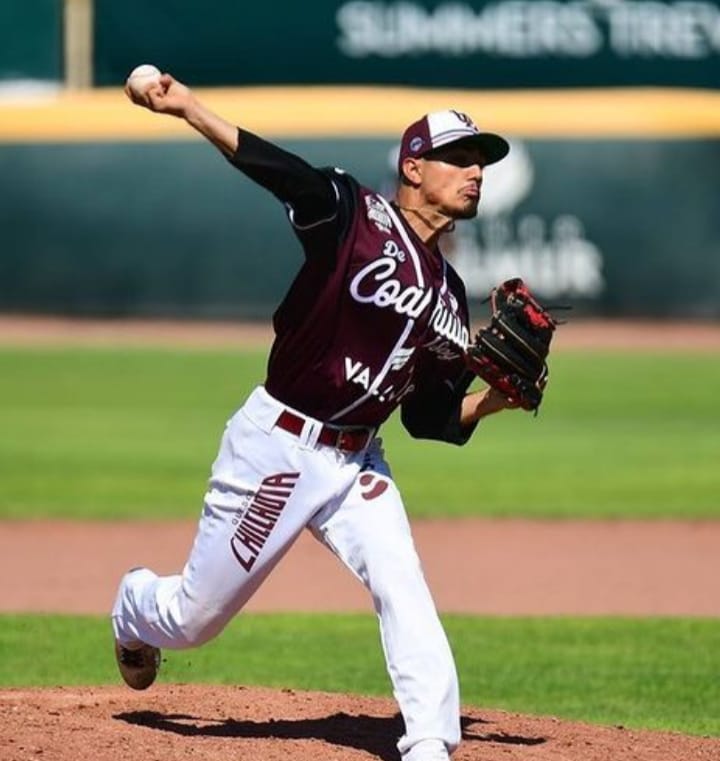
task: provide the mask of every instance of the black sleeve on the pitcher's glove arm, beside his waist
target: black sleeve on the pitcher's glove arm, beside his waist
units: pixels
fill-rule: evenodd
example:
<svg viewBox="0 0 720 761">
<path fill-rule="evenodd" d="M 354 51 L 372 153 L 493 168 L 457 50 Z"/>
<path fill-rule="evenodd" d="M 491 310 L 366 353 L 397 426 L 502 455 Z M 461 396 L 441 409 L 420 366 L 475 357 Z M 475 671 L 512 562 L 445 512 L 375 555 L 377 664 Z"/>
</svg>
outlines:
<svg viewBox="0 0 720 761">
<path fill-rule="evenodd" d="M 460 424 L 462 401 L 475 376 L 464 363 L 453 363 L 453 372 L 428 372 L 402 403 L 400 418 L 416 439 L 433 439 L 462 446 L 470 440 L 477 423 Z"/>
</svg>

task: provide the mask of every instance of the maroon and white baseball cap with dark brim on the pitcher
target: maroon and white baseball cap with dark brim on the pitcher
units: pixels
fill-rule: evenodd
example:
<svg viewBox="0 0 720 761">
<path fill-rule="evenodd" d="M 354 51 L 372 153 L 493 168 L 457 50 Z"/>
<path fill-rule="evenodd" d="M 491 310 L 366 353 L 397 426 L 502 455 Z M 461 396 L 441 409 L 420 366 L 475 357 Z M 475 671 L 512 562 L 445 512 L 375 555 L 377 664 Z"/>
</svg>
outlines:
<svg viewBox="0 0 720 761">
<path fill-rule="evenodd" d="M 434 111 L 413 122 L 403 133 L 398 156 L 398 174 L 406 158 L 419 158 L 429 151 L 462 140 L 480 148 L 486 164 L 505 158 L 510 145 L 492 132 L 480 132 L 475 122 L 460 111 Z"/>
</svg>

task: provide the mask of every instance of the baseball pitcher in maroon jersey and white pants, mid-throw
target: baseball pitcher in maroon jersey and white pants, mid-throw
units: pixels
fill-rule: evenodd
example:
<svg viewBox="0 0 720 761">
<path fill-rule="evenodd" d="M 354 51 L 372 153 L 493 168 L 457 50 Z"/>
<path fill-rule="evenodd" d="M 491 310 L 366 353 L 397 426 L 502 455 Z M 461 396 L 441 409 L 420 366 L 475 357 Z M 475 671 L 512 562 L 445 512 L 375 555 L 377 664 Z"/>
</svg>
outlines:
<svg viewBox="0 0 720 761">
<path fill-rule="evenodd" d="M 182 573 L 121 581 L 120 672 L 145 689 L 161 648 L 215 637 L 308 528 L 372 597 L 402 759 L 447 761 L 460 742 L 455 665 L 378 431 L 399 406 L 411 436 L 464 444 L 482 417 L 527 408 L 505 376 L 469 391 L 479 358 L 465 290 L 438 247 L 475 216 L 483 168 L 508 143 L 458 111 L 423 116 L 402 136 L 390 200 L 228 123 L 169 74 L 127 94 L 184 119 L 272 193 L 304 256 L 273 317 L 264 382 L 225 428 Z"/>
</svg>

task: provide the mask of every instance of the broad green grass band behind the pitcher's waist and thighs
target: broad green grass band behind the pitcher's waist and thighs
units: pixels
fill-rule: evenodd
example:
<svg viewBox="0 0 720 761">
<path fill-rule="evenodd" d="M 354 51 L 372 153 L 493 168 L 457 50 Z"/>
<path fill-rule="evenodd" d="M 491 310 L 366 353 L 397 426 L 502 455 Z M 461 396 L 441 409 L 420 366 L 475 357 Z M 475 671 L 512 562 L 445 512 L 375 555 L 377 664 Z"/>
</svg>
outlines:
<svg viewBox="0 0 720 761">
<path fill-rule="evenodd" d="M 197 515 L 265 352 L 0 349 L 0 518 Z M 383 430 L 413 516 L 720 517 L 720 357 L 562 353 L 465 447 Z"/>
</svg>

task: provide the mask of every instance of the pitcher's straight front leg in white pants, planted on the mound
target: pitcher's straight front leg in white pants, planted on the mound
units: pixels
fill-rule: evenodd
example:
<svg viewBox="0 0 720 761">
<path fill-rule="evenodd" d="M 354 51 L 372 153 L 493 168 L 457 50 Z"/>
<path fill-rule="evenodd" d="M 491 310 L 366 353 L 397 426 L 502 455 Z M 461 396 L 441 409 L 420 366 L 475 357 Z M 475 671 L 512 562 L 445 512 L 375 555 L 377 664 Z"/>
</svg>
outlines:
<svg viewBox="0 0 720 761">
<path fill-rule="evenodd" d="M 452 752 L 460 742 L 455 662 L 389 474 L 361 473 L 342 505 L 321 512 L 312 528 L 372 595 L 405 720 L 398 749 L 435 739 Z"/>
</svg>

